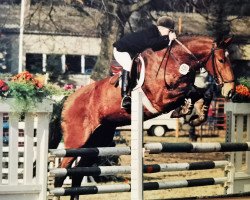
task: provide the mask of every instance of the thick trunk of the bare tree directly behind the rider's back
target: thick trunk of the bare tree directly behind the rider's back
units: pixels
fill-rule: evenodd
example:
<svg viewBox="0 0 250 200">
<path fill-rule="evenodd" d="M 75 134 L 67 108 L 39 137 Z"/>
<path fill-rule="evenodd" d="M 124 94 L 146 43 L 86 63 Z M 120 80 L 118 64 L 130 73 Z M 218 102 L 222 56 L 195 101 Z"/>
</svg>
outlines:
<svg viewBox="0 0 250 200">
<path fill-rule="evenodd" d="M 131 14 L 140 10 L 151 0 L 134 1 L 91 1 L 82 2 L 81 8 L 91 6 L 98 9 L 101 20 L 98 21 L 101 38 L 101 52 L 94 67 L 92 78 L 101 79 L 109 73 L 109 64 L 112 60 L 113 43 L 124 34 L 124 27 L 129 22 Z"/>
</svg>

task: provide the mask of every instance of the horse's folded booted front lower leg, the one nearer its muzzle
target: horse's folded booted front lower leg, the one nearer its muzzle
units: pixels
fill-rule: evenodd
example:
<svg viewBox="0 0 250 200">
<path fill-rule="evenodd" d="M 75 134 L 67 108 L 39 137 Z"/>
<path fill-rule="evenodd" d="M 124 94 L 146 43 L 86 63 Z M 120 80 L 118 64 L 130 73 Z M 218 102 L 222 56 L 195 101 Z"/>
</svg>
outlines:
<svg viewBox="0 0 250 200">
<path fill-rule="evenodd" d="M 200 126 L 202 123 L 207 121 L 208 109 L 212 101 L 212 98 L 213 98 L 213 92 L 210 89 L 208 89 L 204 94 L 204 98 L 197 101 L 196 103 L 197 106 L 195 104 L 195 109 L 197 114 L 193 115 L 189 120 L 189 124 L 191 126 Z"/>
</svg>

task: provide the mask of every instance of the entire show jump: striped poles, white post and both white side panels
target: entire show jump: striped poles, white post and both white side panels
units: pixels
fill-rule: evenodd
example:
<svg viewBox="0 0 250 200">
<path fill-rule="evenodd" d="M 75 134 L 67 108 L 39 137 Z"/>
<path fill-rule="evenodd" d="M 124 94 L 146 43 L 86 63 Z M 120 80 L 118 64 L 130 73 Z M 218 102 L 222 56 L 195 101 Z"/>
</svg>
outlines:
<svg viewBox="0 0 250 200">
<path fill-rule="evenodd" d="M 195 187 L 214 184 L 224 184 L 227 194 L 250 191 L 250 110 L 248 104 L 226 103 L 227 139 L 226 143 L 147 143 L 143 146 L 142 131 L 142 97 L 140 91 L 133 91 L 132 98 L 132 138 L 131 147 L 90 148 L 90 149 L 56 149 L 50 154 L 64 156 L 107 156 L 131 154 L 131 166 L 88 167 L 74 169 L 54 169 L 50 174 L 64 176 L 72 174 L 114 175 L 117 173 L 131 173 L 131 184 L 112 184 L 82 186 L 77 188 L 54 188 L 50 194 L 55 196 L 72 194 L 96 194 L 111 192 L 131 192 L 131 199 L 143 199 L 143 191 L 169 188 Z M 45 104 L 43 104 L 45 105 Z M 0 105 L 0 128 L 3 130 L 3 113 L 9 113 L 9 155 L 2 159 L 5 146 L 0 143 L 0 156 L 3 164 L 8 161 L 8 171 L 0 165 L 1 200 L 46 200 L 47 198 L 47 152 L 48 152 L 48 115 L 52 105 L 39 107 L 36 115 L 25 114 L 25 121 L 19 122 L 18 116 L 13 115 L 9 106 Z M 18 147 L 20 137 L 18 129 L 23 124 L 25 143 Z M 34 136 L 34 129 L 36 134 Z M 2 133 L 0 134 L 2 140 Z M 23 152 L 23 158 L 20 154 Z M 39 152 L 39 153 L 37 153 Z M 227 161 L 168 163 L 143 165 L 143 154 L 162 152 L 231 152 Z M 19 161 L 19 162 L 18 162 Z M 20 161 L 23 165 L 20 165 Z M 35 173 L 33 172 L 36 161 Z M 3 165 L 4 166 L 4 165 Z M 200 170 L 224 168 L 227 176 L 218 178 L 201 178 L 178 181 L 145 182 L 143 173 L 160 171 Z"/>
</svg>

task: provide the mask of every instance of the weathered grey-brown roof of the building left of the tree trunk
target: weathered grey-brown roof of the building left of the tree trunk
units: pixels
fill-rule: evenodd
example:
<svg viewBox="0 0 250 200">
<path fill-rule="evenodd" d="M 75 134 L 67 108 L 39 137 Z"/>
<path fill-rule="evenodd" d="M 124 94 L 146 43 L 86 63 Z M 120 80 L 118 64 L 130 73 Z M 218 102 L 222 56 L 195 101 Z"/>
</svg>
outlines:
<svg viewBox="0 0 250 200">
<path fill-rule="evenodd" d="M 70 6 L 31 6 L 25 19 L 25 33 L 60 34 L 98 37 L 97 25 L 100 13 L 95 9 L 86 8 L 90 13 L 79 12 Z M 20 5 L 0 5 L 1 31 L 19 32 Z"/>
</svg>

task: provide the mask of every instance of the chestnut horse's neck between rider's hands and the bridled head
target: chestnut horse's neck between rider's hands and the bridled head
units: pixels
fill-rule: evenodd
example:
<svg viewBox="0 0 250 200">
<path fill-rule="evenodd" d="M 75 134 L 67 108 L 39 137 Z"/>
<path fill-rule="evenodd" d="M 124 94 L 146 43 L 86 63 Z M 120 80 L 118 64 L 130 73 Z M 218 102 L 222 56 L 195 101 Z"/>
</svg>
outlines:
<svg viewBox="0 0 250 200">
<path fill-rule="evenodd" d="M 166 50 L 158 52 L 149 50 L 144 53 L 147 63 L 147 87 L 157 87 L 159 89 L 165 87 L 166 83 L 174 85 L 183 76 L 179 71 L 182 64 L 187 64 L 190 68 L 189 71 L 197 71 L 201 67 L 199 63 L 204 63 L 209 57 L 212 47 L 211 38 L 184 37 L 180 40 L 192 55 L 177 43 L 172 46 L 171 53 L 169 51 L 166 53 Z"/>
</svg>

